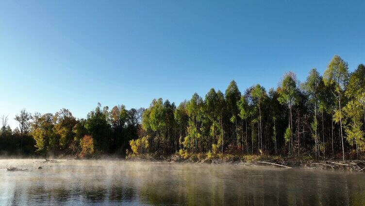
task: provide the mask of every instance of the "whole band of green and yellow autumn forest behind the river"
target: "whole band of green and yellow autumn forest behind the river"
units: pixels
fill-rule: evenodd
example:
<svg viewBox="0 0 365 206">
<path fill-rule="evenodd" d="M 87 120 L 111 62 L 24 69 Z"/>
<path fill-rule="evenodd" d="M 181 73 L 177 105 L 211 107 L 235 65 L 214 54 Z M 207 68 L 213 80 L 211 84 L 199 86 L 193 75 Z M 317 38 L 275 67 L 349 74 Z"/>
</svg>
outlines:
<svg viewBox="0 0 365 206">
<path fill-rule="evenodd" d="M 256 84 L 210 89 L 179 105 L 154 99 L 148 108 L 97 107 L 86 119 L 21 110 L 12 130 L 2 116 L 0 153 L 97 157 L 103 154 L 309 154 L 356 159 L 365 151 L 365 66 L 349 72 L 333 56 L 323 74 L 300 82 L 285 73 L 276 88 Z"/>
</svg>

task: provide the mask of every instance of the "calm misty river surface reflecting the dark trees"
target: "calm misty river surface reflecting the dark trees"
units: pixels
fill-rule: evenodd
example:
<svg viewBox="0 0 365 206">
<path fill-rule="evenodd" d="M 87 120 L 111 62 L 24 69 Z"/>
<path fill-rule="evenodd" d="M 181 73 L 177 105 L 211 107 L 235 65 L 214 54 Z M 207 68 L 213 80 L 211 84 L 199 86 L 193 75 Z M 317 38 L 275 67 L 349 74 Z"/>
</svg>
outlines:
<svg viewBox="0 0 365 206">
<path fill-rule="evenodd" d="M 365 204 L 363 173 L 123 160 L 37 161 L 42 160 L 0 160 L 0 205 Z M 29 171 L 8 172 L 6 165 Z"/>
</svg>

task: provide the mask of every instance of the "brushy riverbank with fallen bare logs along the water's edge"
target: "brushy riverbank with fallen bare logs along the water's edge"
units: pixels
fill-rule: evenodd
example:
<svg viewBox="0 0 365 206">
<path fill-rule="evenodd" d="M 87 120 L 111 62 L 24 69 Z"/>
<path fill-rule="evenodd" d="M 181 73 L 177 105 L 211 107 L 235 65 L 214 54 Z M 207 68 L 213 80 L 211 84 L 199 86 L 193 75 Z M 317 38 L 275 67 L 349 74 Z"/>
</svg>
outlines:
<svg viewBox="0 0 365 206">
<path fill-rule="evenodd" d="M 365 172 L 365 160 L 339 160 L 335 158 L 317 158 L 310 155 L 280 156 L 280 155 L 232 155 L 220 154 L 209 157 L 205 154 L 130 154 L 126 156 L 128 161 L 168 162 L 168 163 L 198 163 L 198 164 L 223 164 L 240 165 L 247 167 L 273 166 L 282 168 L 308 168 L 317 170 L 340 170 Z"/>
</svg>

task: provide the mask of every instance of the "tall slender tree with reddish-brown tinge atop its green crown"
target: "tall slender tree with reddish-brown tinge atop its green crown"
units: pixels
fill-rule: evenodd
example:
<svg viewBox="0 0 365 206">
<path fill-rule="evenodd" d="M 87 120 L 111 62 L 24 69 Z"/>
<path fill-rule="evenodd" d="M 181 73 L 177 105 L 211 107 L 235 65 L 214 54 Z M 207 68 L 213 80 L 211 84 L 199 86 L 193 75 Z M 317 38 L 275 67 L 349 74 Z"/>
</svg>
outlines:
<svg viewBox="0 0 365 206">
<path fill-rule="evenodd" d="M 297 89 L 297 79 L 296 75 L 293 72 L 288 72 L 284 74 L 282 79 L 281 88 L 279 90 L 280 97 L 278 101 L 281 104 L 285 104 L 289 108 L 290 116 L 289 116 L 289 129 L 290 131 L 290 139 L 291 139 L 291 148 L 293 148 L 293 115 L 292 109 L 293 106 L 298 104 L 298 89 Z M 290 150 L 289 144 L 289 150 Z"/>
</svg>

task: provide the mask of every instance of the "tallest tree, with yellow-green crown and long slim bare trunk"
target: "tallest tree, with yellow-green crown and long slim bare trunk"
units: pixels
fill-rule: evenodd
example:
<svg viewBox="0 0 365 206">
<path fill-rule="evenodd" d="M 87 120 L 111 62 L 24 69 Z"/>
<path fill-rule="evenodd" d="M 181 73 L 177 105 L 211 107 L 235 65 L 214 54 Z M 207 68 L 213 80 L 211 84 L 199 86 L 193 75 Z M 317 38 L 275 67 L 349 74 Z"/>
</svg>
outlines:
<svg viewBox="0 0 365 206">
<path fill-rule="evenodd" d="M 345 88 L 348 84 L 348 64 L 340 56 L 333 56 L 331 62 L 328 64 L 327 69 L 323 74 L 323 81 L 325 85 L 332 85 L 333 95 L 337 98 L 338 102 L 338 117 L 340 122 L 340 137 L 342 143 L 342 159 L 345 160 L 345 147 L 344 137 L 342 134 L 342 111 L 341 111 L 341 100 Z"/>
</svg>

